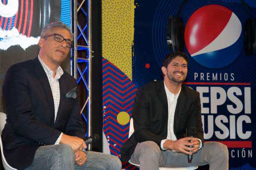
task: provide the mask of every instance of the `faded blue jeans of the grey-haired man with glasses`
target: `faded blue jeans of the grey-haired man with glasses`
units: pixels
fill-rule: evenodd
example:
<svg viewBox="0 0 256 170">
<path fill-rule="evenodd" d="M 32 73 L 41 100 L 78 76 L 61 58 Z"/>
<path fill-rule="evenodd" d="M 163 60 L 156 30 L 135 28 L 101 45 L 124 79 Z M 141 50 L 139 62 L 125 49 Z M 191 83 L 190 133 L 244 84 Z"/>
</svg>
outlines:
<svg viewBox="0 0 256 170">
<path fill-rule="evenodd" d="M 26 170 L 121 170 L 118 157 L 86 151 L 87 161 L 81 167 L 75 164 L 75 153 L 67 144 L 39 147 L 32 164 Z"/>
</svg>

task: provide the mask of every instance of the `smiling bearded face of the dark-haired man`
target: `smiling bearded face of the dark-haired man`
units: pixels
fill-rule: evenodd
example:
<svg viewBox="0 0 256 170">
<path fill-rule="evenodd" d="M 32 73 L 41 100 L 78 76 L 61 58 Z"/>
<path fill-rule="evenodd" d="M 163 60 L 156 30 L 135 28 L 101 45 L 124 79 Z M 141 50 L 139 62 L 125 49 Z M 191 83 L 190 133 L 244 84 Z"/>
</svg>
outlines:
<svg viewBox="0 0 256 170">
<path fill-rule="evenodd" d="M 181 83 L 186 79 L 188 68 L 187 62 L 183 57 L 175 57 L 167 68 L 162 67 L 164 79 L 172 82 Z"/>
</svg>

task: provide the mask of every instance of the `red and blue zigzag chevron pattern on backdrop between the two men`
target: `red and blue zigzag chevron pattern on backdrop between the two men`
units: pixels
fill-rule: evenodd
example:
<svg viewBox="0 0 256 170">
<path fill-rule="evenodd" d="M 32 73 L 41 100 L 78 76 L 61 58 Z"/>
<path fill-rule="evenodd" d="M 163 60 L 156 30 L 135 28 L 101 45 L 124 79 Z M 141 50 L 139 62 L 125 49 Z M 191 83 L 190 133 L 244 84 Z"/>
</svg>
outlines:
<svg viewBox="0 0 256 170">
<path fill-rule="evenodd" d="M 120 125 L 117 115 L 126 112 L 131 118 L 137 88 L 119 68 L 105 58 L 102 59 L 102 77 L 103 131 L 108 139 L 111 154 L 120 157 L 120 149 L 128 139 L 130 124 Z M 127 170 L 137 169 L 128 162 L 122 164 Z"/>
</svg>

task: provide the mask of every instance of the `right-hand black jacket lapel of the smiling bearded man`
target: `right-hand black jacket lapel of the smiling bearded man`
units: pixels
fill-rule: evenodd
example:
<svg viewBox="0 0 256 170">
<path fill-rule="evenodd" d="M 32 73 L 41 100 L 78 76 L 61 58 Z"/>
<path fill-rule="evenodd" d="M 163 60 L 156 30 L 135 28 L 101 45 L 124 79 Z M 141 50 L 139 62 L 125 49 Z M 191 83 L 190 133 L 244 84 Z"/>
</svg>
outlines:
<svg viewBox="0 0 256 170">
<path fill-rule="evenodd" d="M 177 132 L 177 127 L 180 122 L 182 110 L 183 110 L 183 108 L 185 108 L 185 103 L 186 103 L 186 93 L 185 93 L 184 87 L 182 85 L 181 90 L 180 90 L 180 95 L 177 99 L 177 105 L 176 105 L 175 114 L 174 114 L 174 129 L 173 129 L 173 131 L 175 134 Z"/>
</svg>

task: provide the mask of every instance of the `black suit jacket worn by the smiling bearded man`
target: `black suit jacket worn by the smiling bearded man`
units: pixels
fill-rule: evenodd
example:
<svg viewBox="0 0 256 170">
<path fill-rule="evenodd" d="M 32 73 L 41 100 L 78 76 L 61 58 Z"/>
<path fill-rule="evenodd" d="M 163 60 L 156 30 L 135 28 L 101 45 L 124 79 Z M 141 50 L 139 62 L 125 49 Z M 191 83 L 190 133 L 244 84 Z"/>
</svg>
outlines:
<svg viewBox="0 0 256 170">
<path fill-rule="evenodd" d="M 134 133 L 121 149 L 122 161 L 128 161 L 138 142 L 153 141 L 159 147 L 166 139 L 168 126 L 168 101 L 164 82 L 150 82 L 137 91 L 132 117 Z M 204 142 L 199 93 L 182 85 L 174 116 L 174 133 L 177 139 L 186 137 L 189 127 L 197 128 L 197 137 Z"/>
</svg>

